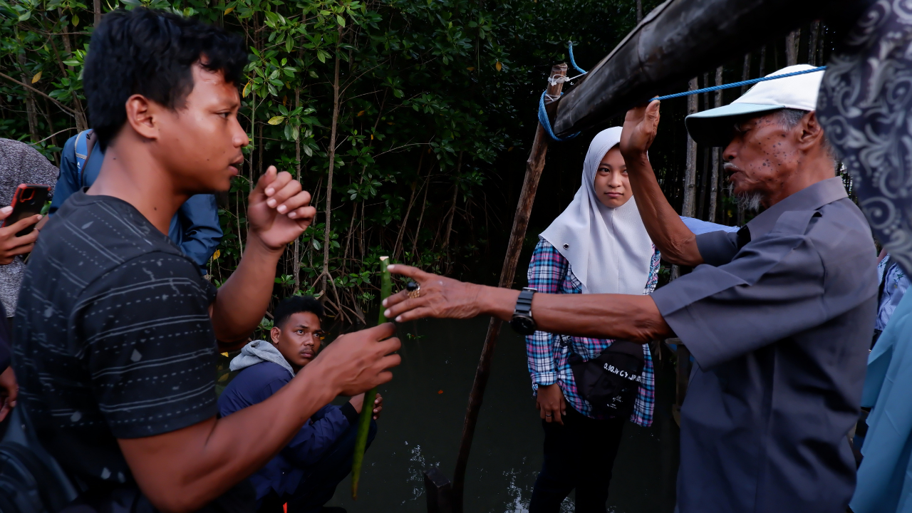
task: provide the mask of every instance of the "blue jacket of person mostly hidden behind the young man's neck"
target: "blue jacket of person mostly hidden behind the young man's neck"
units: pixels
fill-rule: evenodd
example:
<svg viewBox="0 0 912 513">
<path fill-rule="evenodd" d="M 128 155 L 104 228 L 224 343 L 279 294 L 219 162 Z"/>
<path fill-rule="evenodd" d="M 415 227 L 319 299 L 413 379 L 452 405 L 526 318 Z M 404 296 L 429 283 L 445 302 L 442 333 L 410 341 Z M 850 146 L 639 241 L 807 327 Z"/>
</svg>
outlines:
<svg viewBox="0 0 912 513">
<path fill-rule="evenodd" d="M 70 194 L 77 192 L 83 186 L 90 187 L 98 178 L 98 172 L 101 171 L 101 162 L 104 161 L 105 154 L 96 145 L 92 154 L 88 156 L 88 162 L 82 170 L 83 180 L 81 184 L 79 183 L 76 152 L 73 149 L 75 142 L 76 136 L 74 135 L 63 145 L 63 152 L 60 155 L 60 176 L 57 178 L 57 189 L 55 189 L 54 199 L 51 201 L 50 214 L 57 212 Z M 215 204 L 215 195 L 196 194 L 191 196 L 171 218 L 168 236 L 175 245 L 181 248 L 184 255 L 191 257 L 200 266 L 202 274 L 206 274 L 206 263 L 209 262 L 215 248 L 219 246 L 219 241 L 222 240 L 222 226 L 219 225 L 219 208 Z"/>
</svg>

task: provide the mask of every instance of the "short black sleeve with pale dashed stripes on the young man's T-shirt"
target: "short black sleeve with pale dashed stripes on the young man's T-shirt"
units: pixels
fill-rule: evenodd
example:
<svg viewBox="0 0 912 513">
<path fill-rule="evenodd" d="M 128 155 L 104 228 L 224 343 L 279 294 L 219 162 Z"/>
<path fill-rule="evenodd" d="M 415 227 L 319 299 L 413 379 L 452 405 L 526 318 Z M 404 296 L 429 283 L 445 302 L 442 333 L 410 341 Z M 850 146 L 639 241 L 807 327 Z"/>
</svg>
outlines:
<svg viewBox="0 0 912 513">
<path fill-rule="evenodd" d="M 148 253 L 86 288 L 78 358 L 111 433 L 169 433 L 217 413 L 212 289 L 187 258 Z"/>
</svg>

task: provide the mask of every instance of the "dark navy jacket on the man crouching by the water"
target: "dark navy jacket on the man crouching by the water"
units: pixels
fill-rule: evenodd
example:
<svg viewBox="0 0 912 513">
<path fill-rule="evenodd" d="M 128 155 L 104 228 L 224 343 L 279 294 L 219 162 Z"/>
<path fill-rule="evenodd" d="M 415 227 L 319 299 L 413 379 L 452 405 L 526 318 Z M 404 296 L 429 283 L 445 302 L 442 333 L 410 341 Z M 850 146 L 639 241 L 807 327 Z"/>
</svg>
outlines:
<svg viewBox="0 0 912 513">
<path fill-rule="evenodd" d="M 219 397 L 219 413 L 225 417 L 260 403 L 291 379 L 291 372 L 272 361 L 247 367 L 225 387 Z M 294 493 L 307 466 L 316 464 L 349 426 L 357 424 L 358 412 L 351 403 L 341 407 L 327 404 L 321 408 L 282 452 L 250 476 L 250 482 L 256 488 L 256 499 L 267 496 L 270 489 L 274 489 L 278 497 Z"/>
</svg>

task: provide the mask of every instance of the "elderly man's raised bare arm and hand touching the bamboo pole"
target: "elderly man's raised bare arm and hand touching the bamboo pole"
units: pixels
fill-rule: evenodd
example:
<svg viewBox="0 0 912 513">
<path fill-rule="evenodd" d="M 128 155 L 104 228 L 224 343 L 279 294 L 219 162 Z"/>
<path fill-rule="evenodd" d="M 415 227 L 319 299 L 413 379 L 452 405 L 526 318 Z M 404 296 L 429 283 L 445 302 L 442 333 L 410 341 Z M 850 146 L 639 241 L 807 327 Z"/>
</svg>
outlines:
<svg viewBox="0 0 912 513">
<path fill-rule="evenodd" d="M 656 138 L 658 117 L 658 100 L 629 110 L 621 133 L 620 151 L 627 163 L 627 176 L 639 215 L 662 258 L 672 264 L 697 266 L 703 263 L 697 237 L 668 204 L 649 163 L 647 152 Z"/>
</svg>

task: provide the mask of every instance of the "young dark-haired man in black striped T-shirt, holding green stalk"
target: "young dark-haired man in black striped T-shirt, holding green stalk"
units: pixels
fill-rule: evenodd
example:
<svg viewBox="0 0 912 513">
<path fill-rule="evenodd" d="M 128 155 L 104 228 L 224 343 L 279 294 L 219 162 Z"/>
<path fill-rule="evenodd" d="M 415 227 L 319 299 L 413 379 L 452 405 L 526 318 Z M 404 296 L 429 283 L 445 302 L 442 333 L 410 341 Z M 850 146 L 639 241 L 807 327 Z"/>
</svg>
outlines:
<svg viewBox="0 0 912 513">
<path fill-rule="evenodd" d="M 228 189 L 247 136 L 240 38 L 137 8 L 92 34 L 84 84 L 98 179 L 45 227 L 23 282 L 14 366 L 47 451 L 86 511 L 250 511 L 237 486 L 337 394 L 389 381 L 391 324 L 341 337 L 283 389 L 219 419 L 216 351 L 254 330 L 285 245 L 316 214 L 270 167 L 251 191 L 244 257 L 222 288 L 168 237 L 192 194 Z M 217 342 L 219 340 L 217 350 Z M 66 511 L 66 509 L 65 509 Z"/>
</svg>

